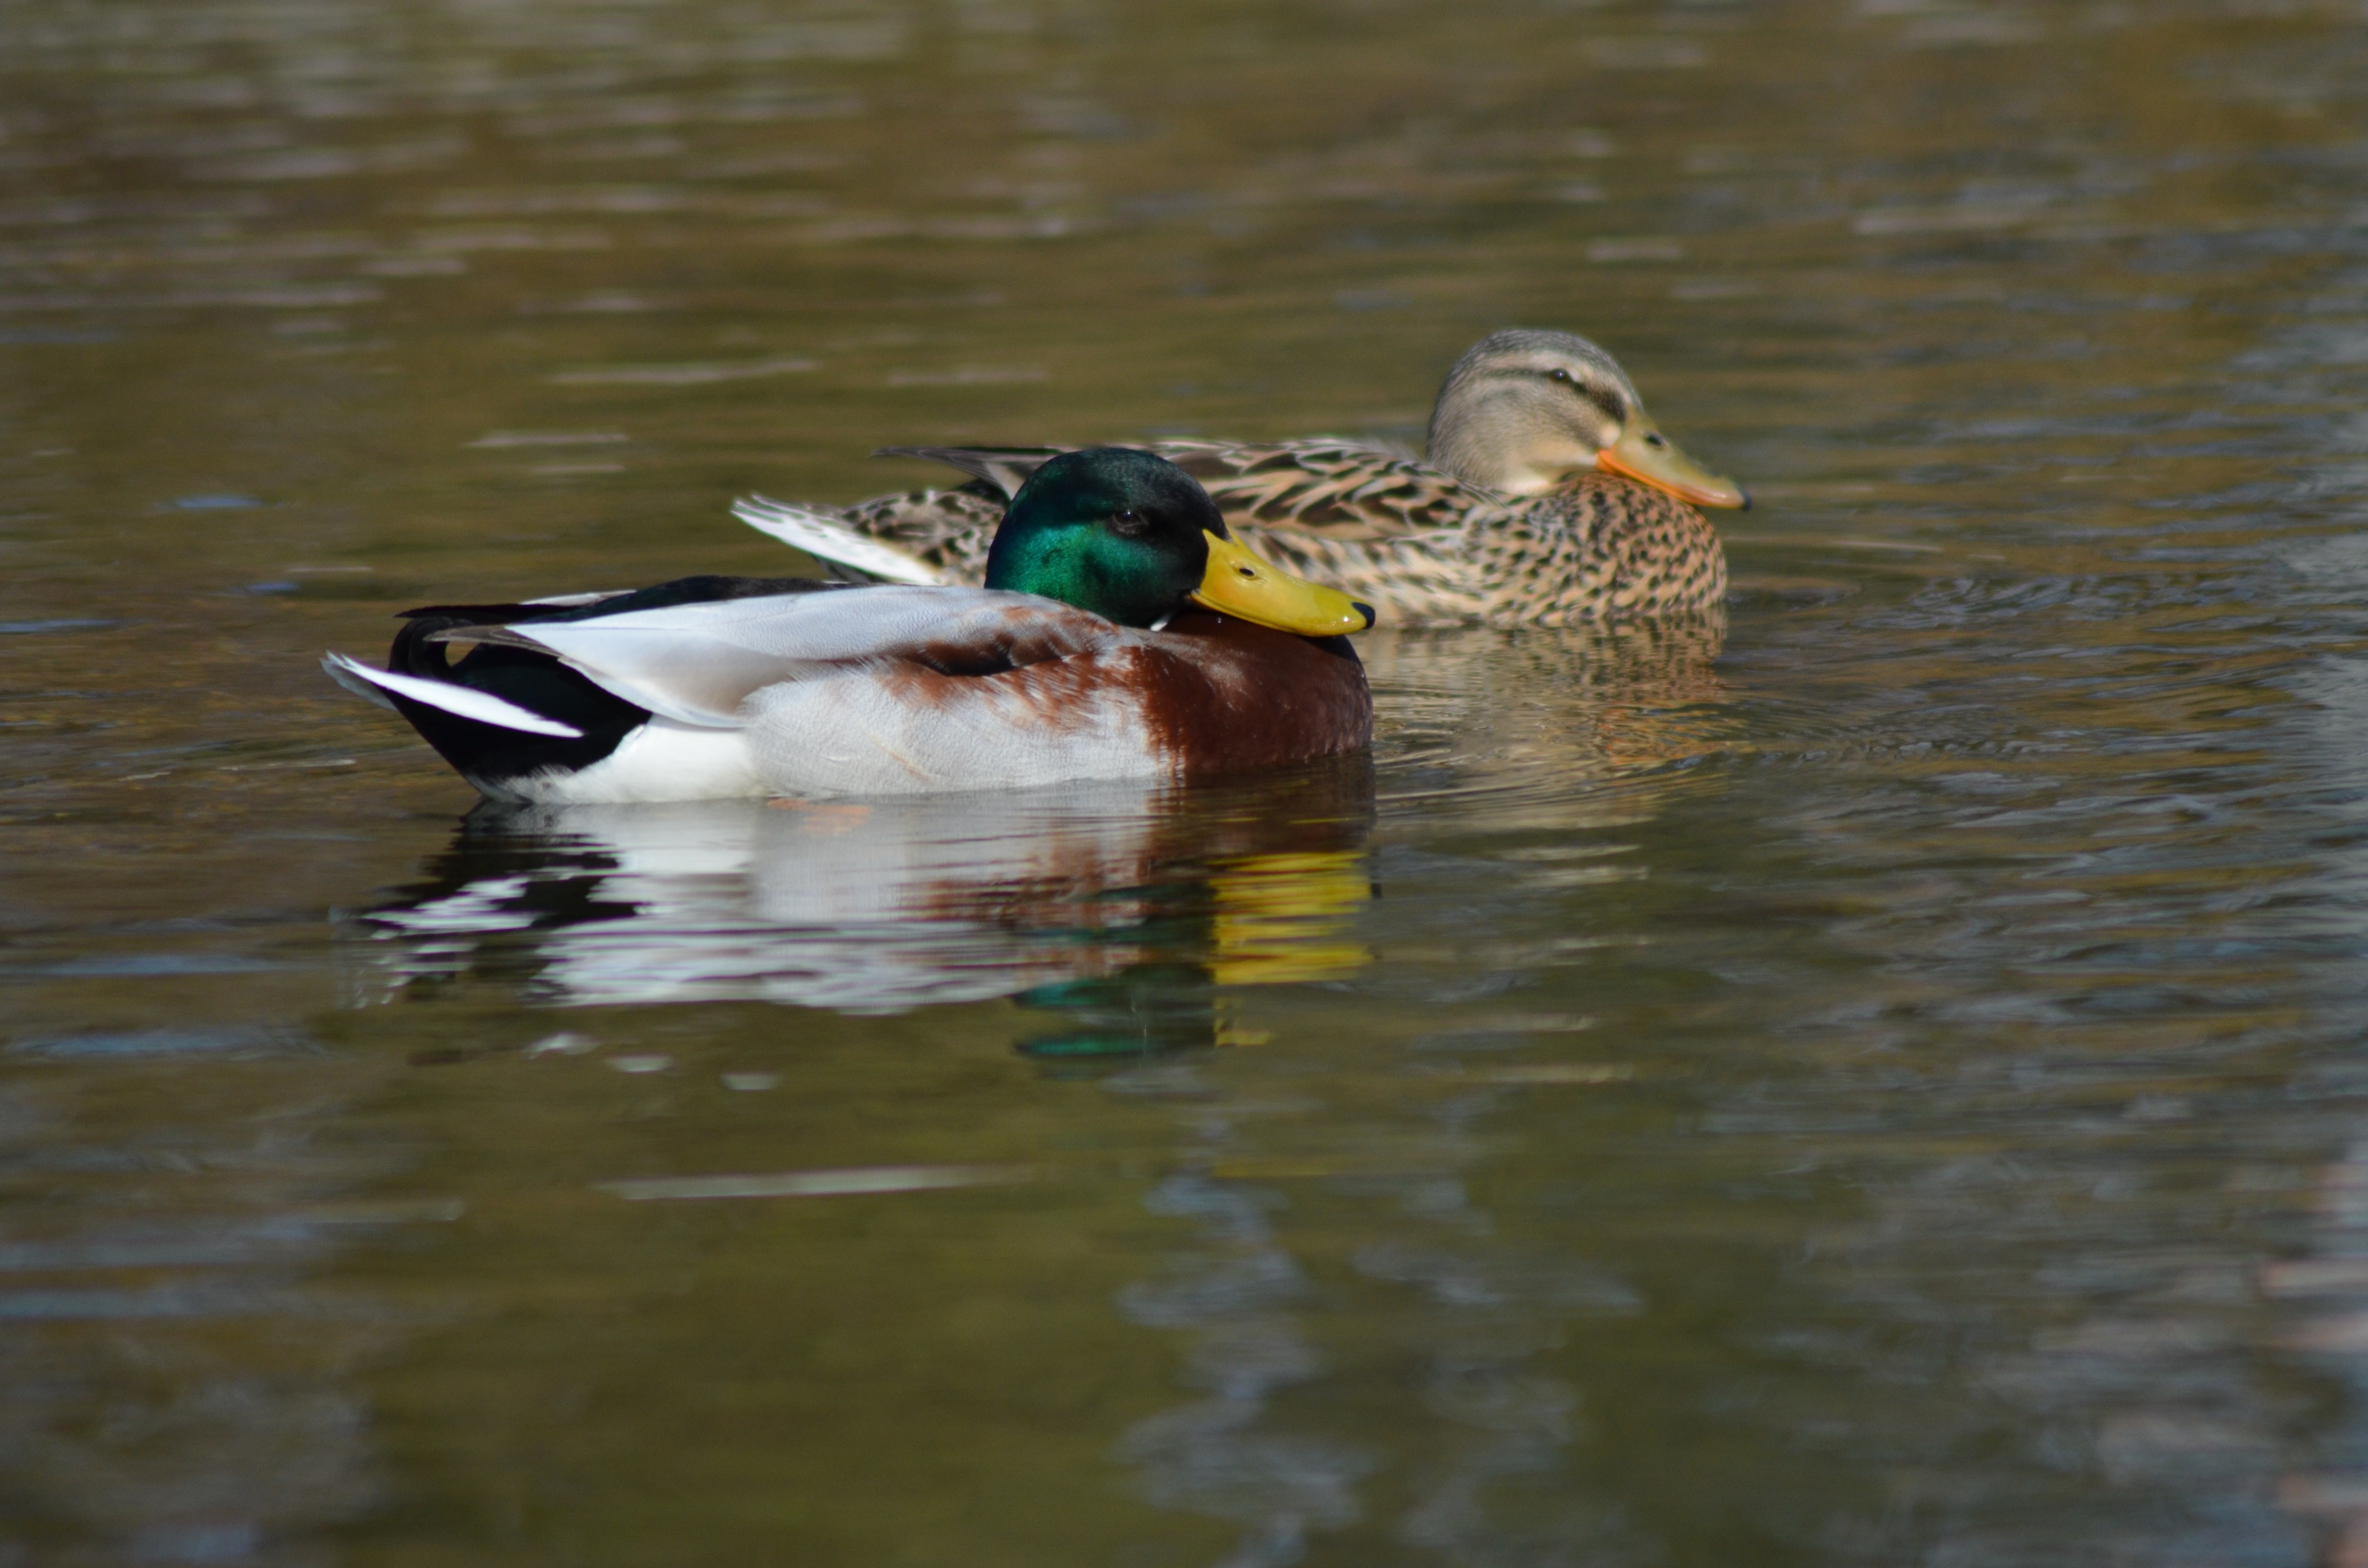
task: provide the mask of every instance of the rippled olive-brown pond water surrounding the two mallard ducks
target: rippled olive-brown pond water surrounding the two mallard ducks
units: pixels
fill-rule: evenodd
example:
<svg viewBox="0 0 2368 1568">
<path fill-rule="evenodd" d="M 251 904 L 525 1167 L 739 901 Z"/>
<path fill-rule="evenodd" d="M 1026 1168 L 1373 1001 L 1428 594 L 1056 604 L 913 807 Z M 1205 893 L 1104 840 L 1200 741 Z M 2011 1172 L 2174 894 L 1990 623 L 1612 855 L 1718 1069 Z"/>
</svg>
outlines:
<svg viewBox="0 0 2368 1568">
<path fill-rule="evenodd" d="M 1724 628 L 471 812 L 324 649 L 1587 332 Z M 2368 26 L 0 7 L 0 1563 L 2368 1563 Z"/>
</svg>

